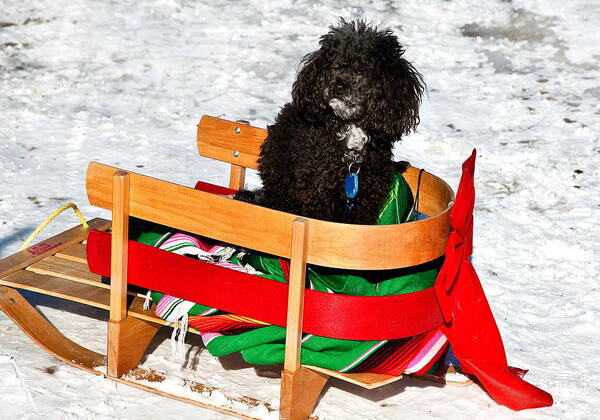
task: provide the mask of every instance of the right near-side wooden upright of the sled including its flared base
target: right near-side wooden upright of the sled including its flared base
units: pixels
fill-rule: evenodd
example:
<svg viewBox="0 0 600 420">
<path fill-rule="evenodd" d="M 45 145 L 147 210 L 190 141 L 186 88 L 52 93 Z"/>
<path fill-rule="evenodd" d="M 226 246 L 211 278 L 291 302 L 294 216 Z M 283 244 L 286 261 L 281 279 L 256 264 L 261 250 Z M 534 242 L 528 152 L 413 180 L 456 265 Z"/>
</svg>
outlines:
<svg viewBox="0 0 600 420">
<path fill-rule="evenodd" d="M 308 417 L 329 379 L 323 373 L 300 366 L 307 250 L 308 220 L 299 217 L 292 225 L 285 361 L 281 372 L 279 417 L 285 420 Z"/>
</svg>

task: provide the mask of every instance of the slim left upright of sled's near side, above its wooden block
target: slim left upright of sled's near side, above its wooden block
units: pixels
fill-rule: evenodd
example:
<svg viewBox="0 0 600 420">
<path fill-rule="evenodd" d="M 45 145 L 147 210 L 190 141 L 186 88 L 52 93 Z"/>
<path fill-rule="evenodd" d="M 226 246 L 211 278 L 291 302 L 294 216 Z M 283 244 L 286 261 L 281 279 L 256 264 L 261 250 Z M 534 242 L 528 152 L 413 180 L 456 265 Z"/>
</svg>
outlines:
<svg viewBox="0 0 600 420">
<path fill-rule="evenodd" d="M 127 241 L 129 239 L 129 174 L 113 175 L 112 244 L 110 265 L 110 320 L 127 314 Z"/>
</svg>

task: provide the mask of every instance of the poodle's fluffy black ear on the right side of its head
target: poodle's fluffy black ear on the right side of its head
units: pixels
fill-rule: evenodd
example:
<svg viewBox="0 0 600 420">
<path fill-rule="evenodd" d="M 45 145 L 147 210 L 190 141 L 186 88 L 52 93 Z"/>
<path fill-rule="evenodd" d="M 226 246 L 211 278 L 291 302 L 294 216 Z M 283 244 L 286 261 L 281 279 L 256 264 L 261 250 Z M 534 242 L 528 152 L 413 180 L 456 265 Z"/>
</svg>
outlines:
<svg viewBox="0 0 600 420">
<path fill-rule="evenodd" d="M 373 54 L 380 71 L 369 101 L 369 119 L 375 130 L 394 142 L 419 124 L 425 83 L 413 65 L 402 58 L 404 49 L 391 30 L 379 32 Z"/>
</svg>

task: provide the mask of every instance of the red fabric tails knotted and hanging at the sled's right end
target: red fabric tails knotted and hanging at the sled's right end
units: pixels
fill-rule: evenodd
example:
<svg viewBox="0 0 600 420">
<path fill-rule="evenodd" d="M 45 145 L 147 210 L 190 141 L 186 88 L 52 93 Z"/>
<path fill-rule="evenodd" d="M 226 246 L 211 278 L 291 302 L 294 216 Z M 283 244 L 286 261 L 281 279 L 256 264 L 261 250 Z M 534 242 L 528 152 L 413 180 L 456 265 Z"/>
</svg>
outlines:
<svg viewBox="0 0 600 420">
<path fill-rule="evenodd" d="M 513 410 L 552 405 L 552 396 L 525 382 L 522 370 L 507 364 L 502 337 L 477 273 L 469 260 L 473 251 L 475 156 L 463 173 L 450 213 L 451 233 L 444 264 L 435 283 L 436 296 L 452 350 L 461 370 L 477 377 L 498 404 Z"/>
</svg>

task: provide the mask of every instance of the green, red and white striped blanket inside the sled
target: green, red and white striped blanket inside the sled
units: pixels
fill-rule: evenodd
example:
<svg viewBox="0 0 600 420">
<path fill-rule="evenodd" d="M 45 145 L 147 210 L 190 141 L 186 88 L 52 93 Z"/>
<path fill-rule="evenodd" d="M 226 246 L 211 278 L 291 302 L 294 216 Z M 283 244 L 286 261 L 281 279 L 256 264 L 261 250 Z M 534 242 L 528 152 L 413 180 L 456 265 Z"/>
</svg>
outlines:
<svg viewBox="0 0 600 420">
<path fill-rule="evenodd" d="M 379 224 L 401 223 L 412 209 L 412 194 L 398 174 L 383 206 Z M 138 241 L 160 249 L 187 255 L 228 269 L 285 282 L 289 262 L 258 253 L 246 253 L 226 244 L 211 243 L 185 232 L 163 226 L 143 232 Z M 418 268 L 358 272 L 308 267 L 307 287 L 327 293 L 382 296 L 411 293 L 431 287 L 439 263 Z M 168 279 L 165 279 L 168 281 Z M 202 279 L 197 279 L 202 287 Z M 196 329 L 214 356 L 240 352 L 252 364 L 282 363 L 285 354 L 285 328 L 230 313 L 159 292 L 151 293 L 156 314 L 178 322 L 181 331 Z M 260 305 L 260 302 L 256 302 Z M 360 316 L 357 308 L 356 316 Z M 394 314 L 390 314 L 394 316 Z M 301 363 L 339 372 L 373 372 L 389 375 L 427 372 L 447 348 L 439 330 L 413 337 L 381 341 L 353 341 L 305 334 L 302 337 Z"/>
</svg>

